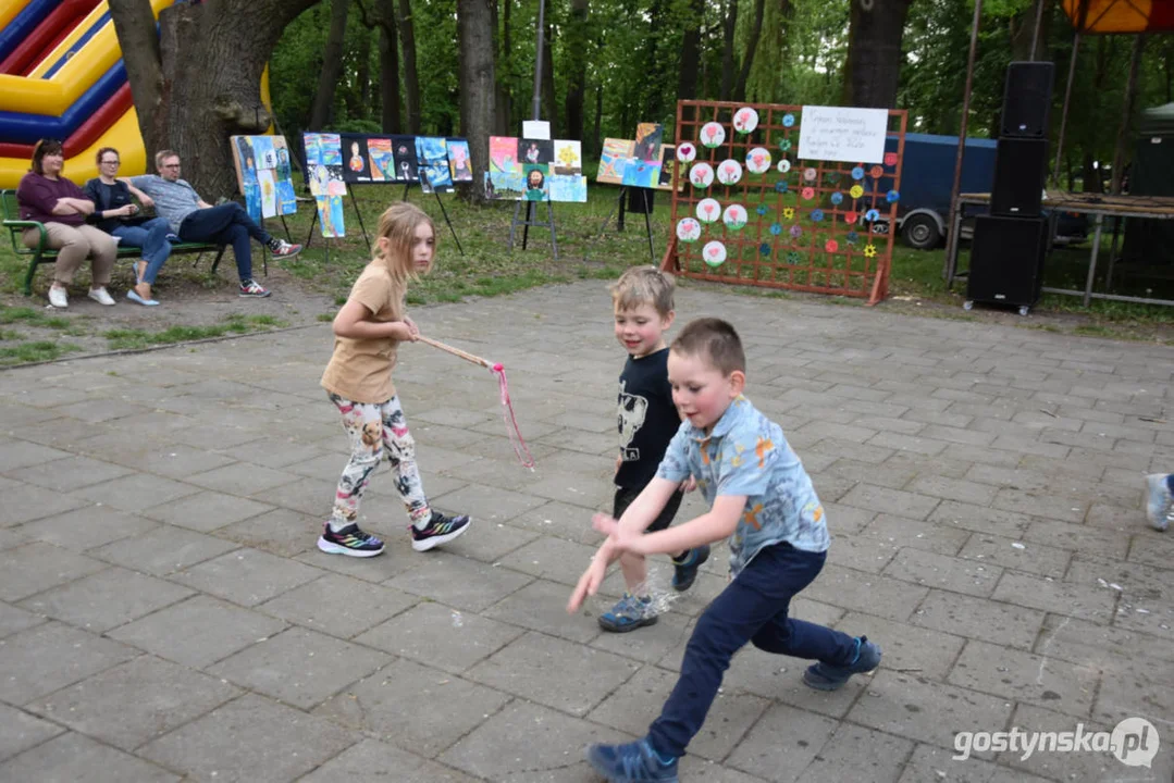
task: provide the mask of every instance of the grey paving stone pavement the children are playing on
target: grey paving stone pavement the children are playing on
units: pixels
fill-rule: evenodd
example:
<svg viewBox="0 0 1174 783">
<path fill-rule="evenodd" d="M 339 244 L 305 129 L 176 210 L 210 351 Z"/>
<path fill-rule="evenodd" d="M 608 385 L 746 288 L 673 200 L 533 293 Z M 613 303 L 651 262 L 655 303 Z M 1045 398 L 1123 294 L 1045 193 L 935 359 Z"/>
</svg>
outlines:
<svg viewBox="0 0 1174 783">
<path fill-rule="evenodd" d="M 738 328 L 748 396 L 826 506 L 829 565 L 795 614 L 885 653 L 822 694 L 803 662 L 743 650 L 682 779 L 1172 779 L 1174 532 L 1141 505 L 1142 475 L 1174 470 L 1169 347 L 727 289 L 677 303 Z M 382 470 L 371 560 L 315 548 L 345 461 L 328 325 L 0 372 L 0 781 L 595 779 L 585 745 L 643 733 L 726 583 L 718 553 L 629 635 L 595 622 L 618 574 L 564 612 L 610 504 L 609 306 L 587 282 L 414 313 L 505 363 L 538 466 L 484 370 L 405 346 L 425 487 L 475 522 L 412 552 Z M 1128 716 L 1161 735 L 1149 768 L 952 758 L 958 731 Z"/>
</svg>

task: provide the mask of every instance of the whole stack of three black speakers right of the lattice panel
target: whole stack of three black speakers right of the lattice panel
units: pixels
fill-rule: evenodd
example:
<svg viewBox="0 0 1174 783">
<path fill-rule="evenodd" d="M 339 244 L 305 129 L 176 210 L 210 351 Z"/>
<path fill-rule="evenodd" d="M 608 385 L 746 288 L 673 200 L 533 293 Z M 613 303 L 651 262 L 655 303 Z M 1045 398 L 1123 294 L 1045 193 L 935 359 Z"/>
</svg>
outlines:
<svg viewBox="0 0 1174 783">
<path fill-rule="evenodd" d="M 1051 62 L 1012 62 L 1007 67 L 991 212 L 977 218 L 971 241 L 966 302 L 1008 304 L 1026 316 L 1039 302 L 1047 255 L 1043 216 L 1047 120 L 1052 103 Z"/>
</svg>

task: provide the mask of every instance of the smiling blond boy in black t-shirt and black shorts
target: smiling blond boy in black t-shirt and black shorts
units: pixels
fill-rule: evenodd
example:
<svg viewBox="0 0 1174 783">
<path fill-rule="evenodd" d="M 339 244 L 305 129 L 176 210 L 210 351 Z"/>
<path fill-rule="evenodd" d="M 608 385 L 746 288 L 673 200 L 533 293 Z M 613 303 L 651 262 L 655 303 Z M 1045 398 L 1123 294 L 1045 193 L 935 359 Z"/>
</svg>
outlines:
<svg viewBox="0 0 1174 783">
<path fill-rule="evenodd" d="M 664 332 L 673 325 L 672 275 L 655 266 L 634 266 L 612 285 L 615 311 L 615 338 L 628 352 L 620 374 L 620 454 L 615 460 L 616 519 L 656 475 L 656 467 L 669 441 L 681 426 L 668 384 L 668 347 Z M 687 487 L 673 495 L 647 532 L 662 531 L 673 521 Z M 689 486 L 688 488 L 691 488 Z M 687 590 L 697 568 L 709 558 L 709 547 L 689 549 L 673 558 L 673 588 Z M 656 610 L 648 596 L 648 569 L 642 555 L 625 553 L 620 569 L 627 592 L 601 615 L 605 630 L 625 633 L 656 622 Z"/>
</svg>

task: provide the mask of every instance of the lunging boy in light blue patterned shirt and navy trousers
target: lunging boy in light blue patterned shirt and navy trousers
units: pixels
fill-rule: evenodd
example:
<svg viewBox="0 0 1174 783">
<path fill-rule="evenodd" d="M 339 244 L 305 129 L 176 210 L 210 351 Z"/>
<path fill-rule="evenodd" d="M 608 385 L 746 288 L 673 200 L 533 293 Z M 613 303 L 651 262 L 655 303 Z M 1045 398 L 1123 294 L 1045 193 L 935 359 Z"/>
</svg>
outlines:
<svg viewBox="0 0 1174 783">
<path fill-rule="evenodd" d="M 596 514 L 607 534 L 567 605 L 576 612 L 594 595 L 610 561 L 625 552 L 681 552 L 729 536 L 730 583 L 697 620 L 681 677 L 648 735 L 621 745 L 592 745 L 587 761 L 613 783 L 676 781 L 677 758 L 701 729 L 722 674 L 747 642 L 781 655 L 814 660 L 803 682 L 835 690 L 880 663 L 864 636 L 795 620 L 788 606 L 823 568 L 829 535 L 811 479 L 782 428 L 742 396 L 745 355 L 724 320 L 686 326 L 668 357 L 673 401 L 686 421 L 653 479 L 619 521 Z M 689 475 L 710 511 L 645 534 Z"/>
</svg>

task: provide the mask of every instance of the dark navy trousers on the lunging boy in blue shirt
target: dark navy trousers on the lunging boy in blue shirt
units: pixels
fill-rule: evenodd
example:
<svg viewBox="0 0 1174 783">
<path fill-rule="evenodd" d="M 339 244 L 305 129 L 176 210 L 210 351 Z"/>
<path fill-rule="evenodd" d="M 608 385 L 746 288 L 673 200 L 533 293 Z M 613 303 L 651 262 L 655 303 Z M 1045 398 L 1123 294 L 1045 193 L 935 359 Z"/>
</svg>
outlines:
<svg viewBox="0 0 1174 783">
<path fill-rule="evenodd" d="M 681 677 L 648 729 L 663 756 L 683 756 L 706 722 L 734 653 L 747 642 L 768 653 L 846 666 L 856 639 L 831 628 L 787 616 L 788 605 L 810 585 L 826 559 L 790 544 L 762 549 L 697 620 L 684 649 Z"/>
</svg>

